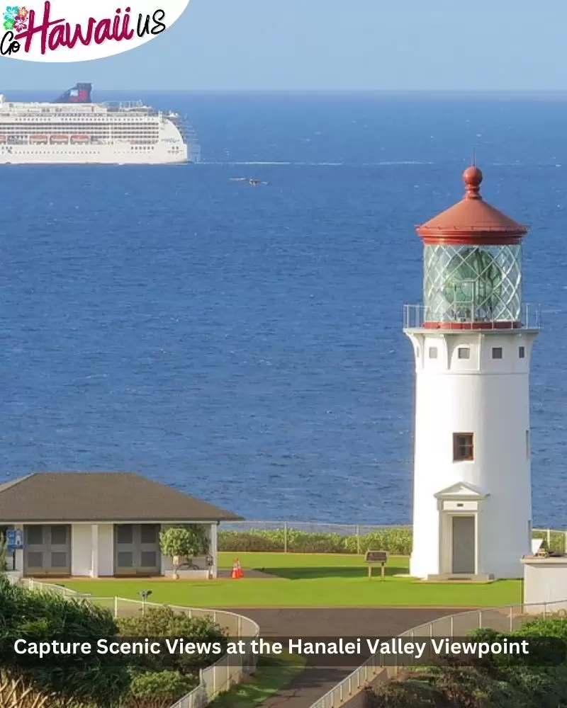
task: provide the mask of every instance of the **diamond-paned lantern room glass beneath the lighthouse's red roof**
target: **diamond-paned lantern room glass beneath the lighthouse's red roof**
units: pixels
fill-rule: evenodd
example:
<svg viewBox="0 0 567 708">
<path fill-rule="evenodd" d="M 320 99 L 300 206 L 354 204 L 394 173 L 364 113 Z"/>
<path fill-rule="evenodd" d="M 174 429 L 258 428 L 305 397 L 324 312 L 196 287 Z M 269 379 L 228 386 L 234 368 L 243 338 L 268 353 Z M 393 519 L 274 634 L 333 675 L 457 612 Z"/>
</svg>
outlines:
<svg viewBox="0 0 567 708">
<path fill-rule="evenodd" d="M 423 302 L 429 322 L 516 322 L 522 246 L 425 246 Z"/>
</svg>

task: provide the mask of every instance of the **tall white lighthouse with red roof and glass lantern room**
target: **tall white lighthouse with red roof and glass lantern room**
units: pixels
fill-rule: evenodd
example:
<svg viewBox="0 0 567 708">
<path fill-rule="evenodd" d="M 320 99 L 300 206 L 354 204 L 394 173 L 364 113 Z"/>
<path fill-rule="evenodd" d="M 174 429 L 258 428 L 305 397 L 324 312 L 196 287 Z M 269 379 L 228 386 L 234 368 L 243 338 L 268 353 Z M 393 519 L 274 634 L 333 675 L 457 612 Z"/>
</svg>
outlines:
<svg viewBox="0 0 567 708">
<path fill-rule="evenodd" d="M 423 301 L 405 305 L 415 355 L 410 574 L 519 578 L 531 552 L 529 365 L 537 309 L 522 303 L 527 228 L 481 197 L 417 227 Z"/>
</svg>

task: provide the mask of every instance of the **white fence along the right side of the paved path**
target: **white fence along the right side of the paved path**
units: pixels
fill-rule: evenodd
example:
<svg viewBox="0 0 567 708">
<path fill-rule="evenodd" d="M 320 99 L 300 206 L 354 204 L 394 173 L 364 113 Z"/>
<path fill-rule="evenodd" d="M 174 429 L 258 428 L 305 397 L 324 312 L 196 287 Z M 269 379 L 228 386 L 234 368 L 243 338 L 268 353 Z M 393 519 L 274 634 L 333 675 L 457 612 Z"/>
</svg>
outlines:
<svg viewBox="0 0 567 708">
<path fill-rule="evenodd" d="M 496 632 L 513 632 L 515 629 L 520 629 L 528 619 L 545 618 L 558 612 L 564 613 L 566 608 L 567 600 L 560 600 L 556 603 L 508 605 L 507 607 L 491 607 L 484 610 L 469 610 L 433 619 L 432 622 L 425 622 L 418 627 L 408 629 L 407 632 L 402 632 L 399 636 L 408 639 L 432 636 L 462 638 L 471 632 L 471 629 L 481 627 L 495 629 Z M 403 666 L 401 664 L 399 666 L 385 666 L 384 656 L 374 654 L 341 683 L 315 701 L 310 708 L 338 708 L 369 687 L 374 681 L 386 681 L 410 666 L 408 661 L 405 661 Z"/>
</svg>

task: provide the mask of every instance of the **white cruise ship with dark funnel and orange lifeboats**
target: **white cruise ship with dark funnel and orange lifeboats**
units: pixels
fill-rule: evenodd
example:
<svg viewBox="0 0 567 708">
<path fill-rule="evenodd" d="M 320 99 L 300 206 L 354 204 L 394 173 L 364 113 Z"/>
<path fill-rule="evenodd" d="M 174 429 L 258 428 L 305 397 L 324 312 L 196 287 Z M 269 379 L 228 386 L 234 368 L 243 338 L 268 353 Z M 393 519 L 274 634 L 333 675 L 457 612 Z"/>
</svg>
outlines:
<svg viewBox="0 0 567 708">
<path fill-rule="evenodd" d="M 172 164 L 198 162 L 176 113 L 141 102 L 93 103 L 76 84 L 52 103 L 0 95 L 0 164 Z"/>
</svg>

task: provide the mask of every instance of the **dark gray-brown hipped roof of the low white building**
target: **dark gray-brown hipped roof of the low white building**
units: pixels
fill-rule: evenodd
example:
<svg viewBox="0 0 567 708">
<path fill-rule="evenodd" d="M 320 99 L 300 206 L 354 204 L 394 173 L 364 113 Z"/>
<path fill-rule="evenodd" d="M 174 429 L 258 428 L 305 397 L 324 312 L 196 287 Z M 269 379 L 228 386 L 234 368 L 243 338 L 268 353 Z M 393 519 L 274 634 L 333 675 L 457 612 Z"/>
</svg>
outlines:
<svg viewBox="0 0 567 708">
<path fill-rule="evenodd" d="M 0 484 L 0 523 L 241 518 L 132 472 L 38 472 Z"/>
</svg>

